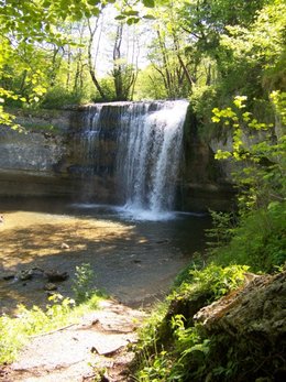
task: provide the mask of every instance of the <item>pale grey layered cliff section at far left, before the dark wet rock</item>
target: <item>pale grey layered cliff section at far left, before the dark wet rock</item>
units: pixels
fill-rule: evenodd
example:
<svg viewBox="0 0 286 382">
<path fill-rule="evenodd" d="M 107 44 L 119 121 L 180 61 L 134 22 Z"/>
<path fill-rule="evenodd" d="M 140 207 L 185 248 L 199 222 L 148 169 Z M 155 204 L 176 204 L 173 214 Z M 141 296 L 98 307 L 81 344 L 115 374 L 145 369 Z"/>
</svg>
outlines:
<svg viewBox="0 0 286 382">
<path fill-rule="evenodd" d="M 74 185 L 58 165 L 67 155 L 66 134 L 73 112 L 19 112 L 25 132 L 0 128 L 0 195 L 64 196 Z"/>
</svg>

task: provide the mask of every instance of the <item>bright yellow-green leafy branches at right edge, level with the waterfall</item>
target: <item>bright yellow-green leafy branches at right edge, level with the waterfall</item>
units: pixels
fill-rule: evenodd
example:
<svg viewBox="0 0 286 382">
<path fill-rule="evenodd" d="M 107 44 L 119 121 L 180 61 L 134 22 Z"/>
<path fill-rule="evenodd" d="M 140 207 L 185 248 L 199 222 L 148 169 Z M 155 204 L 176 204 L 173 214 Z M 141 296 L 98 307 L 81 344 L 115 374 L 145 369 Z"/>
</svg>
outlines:
<svg viewBox="0 0 286 382">
<path fill-rule="evenodd" d="M 246 97 L 235 97 L 234 106 L 226 109 L 213 109 L 213 122 L 223 121 L 227 129 L 232 129 L 232 150 L 216 154 L 218 160 L 232 159 L 243 162 L 243 174 L 235 174 L 235 181 L 241 188 L 241 214 L 244 209 L 267 207 L 273 201 L 282 201 L 285 197 L 285 149 L 286 137 L 276 141 L 271 133 L 273 124 L 258 122 L 245 108 Z M 279 107 L 277 107 L 279 110 Z M 283 116 L 282 116 L 283 117 Z M 265 132 L 264 132 L 265 131 Z M 268 132 L 270 131 L 270 132 Z M 261 132 L 260 135 L 257 132 Z"/>
</svg>

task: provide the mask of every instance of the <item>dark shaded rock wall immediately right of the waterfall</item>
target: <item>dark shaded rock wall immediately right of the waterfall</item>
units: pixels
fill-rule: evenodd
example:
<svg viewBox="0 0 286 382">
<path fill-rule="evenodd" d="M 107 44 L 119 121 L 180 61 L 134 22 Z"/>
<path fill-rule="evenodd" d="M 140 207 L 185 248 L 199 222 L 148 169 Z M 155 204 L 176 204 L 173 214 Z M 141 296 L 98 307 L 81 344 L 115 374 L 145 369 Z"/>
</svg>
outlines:
<svg viewBox="0 0 286 382">
<path fill-rule="evenodd" d="M 184 131 L 184 156 L 179 181 L 183 210 L 229 210 L 234 205 L 234 189 L 229 163 L 215 160 L 216 148 L 202 139 L 199 122 L 189 107 Z"/>
</svg>

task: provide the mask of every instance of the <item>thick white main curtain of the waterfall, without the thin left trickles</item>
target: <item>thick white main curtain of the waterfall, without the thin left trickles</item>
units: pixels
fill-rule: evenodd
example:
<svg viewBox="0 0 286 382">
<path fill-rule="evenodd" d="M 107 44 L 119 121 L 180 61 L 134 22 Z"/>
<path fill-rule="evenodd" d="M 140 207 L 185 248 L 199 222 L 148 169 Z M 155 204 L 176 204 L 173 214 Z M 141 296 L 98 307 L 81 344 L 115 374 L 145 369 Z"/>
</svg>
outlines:
<svg viewBox="0 0 286 382">
<path fill-rule="evenodd" d="M 156 110 L 139 112 L 134 105 L 128 131 L 119 137 L 122 148 L 118 172 L 125 190 L 125 210 L 135 219 L 174 217 L 177 174 L 182 156 L 187 101 L 158 103 Z"/>
</svg>

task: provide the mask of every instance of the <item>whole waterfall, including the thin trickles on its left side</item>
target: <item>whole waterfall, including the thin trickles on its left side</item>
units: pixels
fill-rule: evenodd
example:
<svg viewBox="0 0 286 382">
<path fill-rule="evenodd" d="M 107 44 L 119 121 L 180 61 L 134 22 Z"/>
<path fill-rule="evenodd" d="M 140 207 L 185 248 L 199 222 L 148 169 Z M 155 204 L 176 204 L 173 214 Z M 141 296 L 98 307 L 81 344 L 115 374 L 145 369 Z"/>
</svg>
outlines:
<svg viewBox="0 0 286 382">
<path fill-rule="evenodd" d="M 117 102 L 89 107 L 81 146 L 96 175 L 114 177 L 116 193 L 134 215 L 174 208 L 188 102 Z"/>
</svg>

